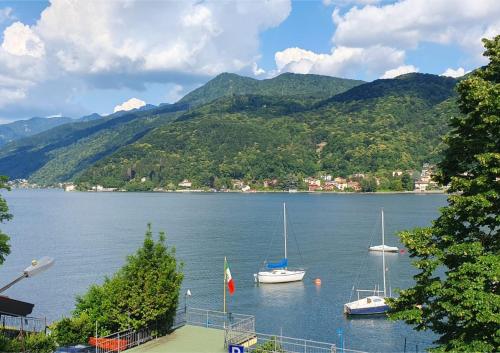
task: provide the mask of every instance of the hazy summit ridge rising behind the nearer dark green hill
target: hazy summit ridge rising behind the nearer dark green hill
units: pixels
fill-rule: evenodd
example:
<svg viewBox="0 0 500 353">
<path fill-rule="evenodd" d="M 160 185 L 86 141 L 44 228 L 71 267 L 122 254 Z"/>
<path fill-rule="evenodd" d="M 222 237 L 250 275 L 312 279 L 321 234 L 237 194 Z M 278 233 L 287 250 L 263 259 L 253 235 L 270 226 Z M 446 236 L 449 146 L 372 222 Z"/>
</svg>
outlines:
<svg viewBox="0 0 500 353">
<path fill-rule="evenodd" d="M 267 80 L 256 80 L 236 74 L 223 73 L 200 88 L 188 93 L 179 103 L 199 106 L 223 96 L 263 95 L 325 99 L 364 83 L 320 75 L 284 73 Z"/>
</svg>

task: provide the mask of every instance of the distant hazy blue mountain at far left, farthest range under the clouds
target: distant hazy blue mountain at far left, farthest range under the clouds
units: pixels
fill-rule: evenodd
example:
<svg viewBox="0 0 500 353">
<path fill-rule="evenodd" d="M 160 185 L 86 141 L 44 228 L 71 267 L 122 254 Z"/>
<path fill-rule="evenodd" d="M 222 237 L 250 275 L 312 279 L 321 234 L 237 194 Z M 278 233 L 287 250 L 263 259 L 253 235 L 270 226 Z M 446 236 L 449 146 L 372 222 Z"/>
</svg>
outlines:
<svg viewBox="0 0 500 353">
<path fill-rule="evenodd" d="M 23 137 L 36 135 L 42 131 L 71 122 L 71 118 L 31 118 L 0 125 L 0 146 Z"/>
</svg>

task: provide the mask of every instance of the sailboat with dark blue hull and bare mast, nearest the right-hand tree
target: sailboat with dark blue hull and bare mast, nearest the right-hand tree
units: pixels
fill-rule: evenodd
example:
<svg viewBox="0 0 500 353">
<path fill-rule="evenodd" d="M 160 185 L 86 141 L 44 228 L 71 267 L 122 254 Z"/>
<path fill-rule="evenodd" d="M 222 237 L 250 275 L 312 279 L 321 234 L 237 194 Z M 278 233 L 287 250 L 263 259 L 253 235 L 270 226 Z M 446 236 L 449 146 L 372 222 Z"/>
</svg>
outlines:
<svg viewBox="0 0 500 353">
<path fill-rule="evenodd" d="M 384 232 L 384 210 L 381 211 L 382 218 L 382 276 L 384 282 L 384 290 L 379 290 L 378 286 L 374 289 L 358 289 L 358 300 L 350 303 L 344 304 L 344 313 L 347 315 L 374 315 L 374 314 L 384 314 L 389 310 L 389 306 L 385 303 L 385 298 L 387 298 L 387 286 L 386 286 L 386 276 L 385 276 L 385 232 Z M 359 297 L 360 292 L 371 292 L 372 295 L 361 298 Z"/>
</svg>

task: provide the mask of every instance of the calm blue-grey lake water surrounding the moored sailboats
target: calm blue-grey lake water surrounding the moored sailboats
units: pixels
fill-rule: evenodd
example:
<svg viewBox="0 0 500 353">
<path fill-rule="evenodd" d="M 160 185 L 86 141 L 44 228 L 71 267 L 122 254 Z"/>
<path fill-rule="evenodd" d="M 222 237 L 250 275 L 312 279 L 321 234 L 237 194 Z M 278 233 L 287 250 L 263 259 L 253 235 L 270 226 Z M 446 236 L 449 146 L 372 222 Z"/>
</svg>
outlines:
<svg viewBox="0 0 500 353">
<path fill-rule="evenodd" d="M 142 243 L 146 224 L 164 230 L 184 262 L 183 292 L 189 305 L 222 310 L 223 260 L 236 283 L 232 312 L 256 316 L 259 332 L 319 341 L 337 341 L 371 352 L 423 351 L 430 333 L 385 318 L 347 319 L 342 307 L 359 278 L 370 289 L 381 283 L 380 209 L 385 211 L 386 244 L 400 246 L 396 232 L 427 226 L 446 196 L 413 194 L 216 194 L 65 193 L 58 190 L 5 192 L 14 220 L 2 225 L 12 253 L 0 268 L 0 284 L 44 255 L 56 264 L 4 294 L 36 304 L 34 316 L 57 320 L 69 315 L 74 297 L 123 265 Z M 304 266 L 303 282 L 256 286 L 253 273 L 283 252 L 282 203 L 287 203 L 290 266 Z M 392 288 L 413 283 L 407 254 L 388 254 Z M 321 278 L 316 286 L 313 279 Z"/>
</svg>

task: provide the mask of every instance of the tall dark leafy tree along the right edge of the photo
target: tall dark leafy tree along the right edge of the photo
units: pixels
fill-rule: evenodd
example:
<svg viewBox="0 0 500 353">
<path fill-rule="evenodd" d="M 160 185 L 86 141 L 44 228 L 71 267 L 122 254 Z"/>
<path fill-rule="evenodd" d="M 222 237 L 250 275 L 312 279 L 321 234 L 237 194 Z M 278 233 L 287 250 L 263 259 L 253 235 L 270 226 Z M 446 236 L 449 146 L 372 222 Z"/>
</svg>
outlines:
<svg viewBox="0 0 500 353">
<path fill-rule="evenodd" d="M 433 351 L 500 351 L 500 36 L 483 42 L 490 62 L 458 85 L 463 115 L 438 164 L 448 206 L 400 234 L 420 272 L 389 300 L 393 319 L 439 336 Z"/>
</svg>

